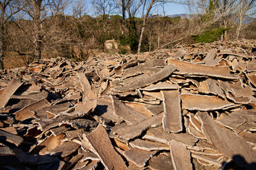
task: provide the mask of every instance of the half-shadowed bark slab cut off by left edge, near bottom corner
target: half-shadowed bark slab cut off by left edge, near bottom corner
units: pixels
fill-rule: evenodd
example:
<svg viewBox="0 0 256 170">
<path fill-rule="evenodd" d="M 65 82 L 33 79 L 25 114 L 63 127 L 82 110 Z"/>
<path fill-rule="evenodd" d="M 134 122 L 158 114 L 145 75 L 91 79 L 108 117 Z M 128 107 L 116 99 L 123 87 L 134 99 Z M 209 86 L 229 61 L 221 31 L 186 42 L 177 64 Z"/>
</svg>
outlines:
<svg viewBox="0 0 256 170">
<path fill-rule="evenodd" d="M 18 135 L 14 135 L 10 132 L 6 132 L 4 130 L 0 130 L 0 140 L 3 142 L 6 141 L 6 142 L 13 143 L 17 147 L 18 147 L 18 145 L 21 145 L 21 143 L 23 142 L 22 137 L 20 137 Z"/>
</svg>

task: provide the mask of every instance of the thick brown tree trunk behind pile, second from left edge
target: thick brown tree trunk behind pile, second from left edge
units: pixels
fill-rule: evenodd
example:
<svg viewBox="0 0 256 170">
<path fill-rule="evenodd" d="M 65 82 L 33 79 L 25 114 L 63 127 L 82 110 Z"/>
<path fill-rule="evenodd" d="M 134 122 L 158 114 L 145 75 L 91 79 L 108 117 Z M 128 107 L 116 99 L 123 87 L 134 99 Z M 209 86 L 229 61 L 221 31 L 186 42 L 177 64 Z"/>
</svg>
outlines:
<svg viewBox="0 0 256 170">
<path fill-rule="evenodd" d="M 41 23 L 40 23 L 40 10 L 42 1 L 33 1 L 34 16 L 33 16 L 33 27 L 34 27 L 34 57 L 35 60 L 41 60 Z"/>
</svg>

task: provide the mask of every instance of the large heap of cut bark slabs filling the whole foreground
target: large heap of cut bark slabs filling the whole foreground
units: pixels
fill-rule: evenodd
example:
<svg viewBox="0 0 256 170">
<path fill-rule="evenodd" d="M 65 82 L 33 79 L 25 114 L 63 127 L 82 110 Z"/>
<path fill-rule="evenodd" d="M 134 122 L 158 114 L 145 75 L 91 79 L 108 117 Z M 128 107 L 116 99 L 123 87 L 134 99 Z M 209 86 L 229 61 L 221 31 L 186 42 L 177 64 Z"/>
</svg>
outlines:
<svg viewBox="0 0 256 170">
<path fill-rule="evenodd" d="M 255 169 L 255 42 L 0 73 L 1 169 Z"/>
</svg>

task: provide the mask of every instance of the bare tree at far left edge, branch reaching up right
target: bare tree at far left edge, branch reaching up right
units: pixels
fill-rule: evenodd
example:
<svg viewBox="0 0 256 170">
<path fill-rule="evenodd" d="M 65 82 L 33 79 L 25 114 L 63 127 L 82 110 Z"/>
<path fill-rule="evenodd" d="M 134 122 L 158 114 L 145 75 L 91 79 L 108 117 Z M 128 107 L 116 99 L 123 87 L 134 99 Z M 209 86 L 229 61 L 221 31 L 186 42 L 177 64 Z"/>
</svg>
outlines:
<svg viewBox="0 0 256 170">
<path fill-rule="evenodd" d="M 16 0 L 1 0 L 0 1 L 0 69 L 4 69 L 4 33 L 5 23 L 27 4 L 20 6 Z"/>
</svg>

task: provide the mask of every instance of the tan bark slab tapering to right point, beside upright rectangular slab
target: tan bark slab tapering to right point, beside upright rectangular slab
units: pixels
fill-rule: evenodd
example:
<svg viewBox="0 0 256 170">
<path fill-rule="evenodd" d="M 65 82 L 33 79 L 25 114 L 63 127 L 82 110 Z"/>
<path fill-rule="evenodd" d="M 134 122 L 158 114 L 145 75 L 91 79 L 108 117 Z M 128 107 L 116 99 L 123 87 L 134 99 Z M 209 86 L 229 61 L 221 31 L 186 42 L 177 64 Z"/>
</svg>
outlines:
<svg viewBox="0 0 256 170">
<path fill-rule="evenodd" d="M 203 96 L 194 94 L 181 94 L 182 108 L 190 111 L 215 111 L 235 106 L 234 103 L 224 101 L 215 96 Z"/>
</svg>

